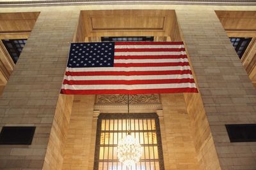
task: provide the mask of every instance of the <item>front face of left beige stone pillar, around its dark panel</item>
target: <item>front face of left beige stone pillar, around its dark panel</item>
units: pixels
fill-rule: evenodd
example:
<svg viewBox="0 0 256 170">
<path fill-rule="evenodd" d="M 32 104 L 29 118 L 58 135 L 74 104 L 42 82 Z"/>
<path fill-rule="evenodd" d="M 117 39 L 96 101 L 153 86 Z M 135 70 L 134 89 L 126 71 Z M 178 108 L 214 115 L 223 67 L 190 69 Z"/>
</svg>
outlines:
<svg viewBox="0 0 256 170">
<path fill-rule="evenodd" d="M 42 11 L 0 99 L 0 127 L 36 126 L 32 145 L 1 145 L 0 169 L 42 169 L 79 11 Z"/>
</svg>

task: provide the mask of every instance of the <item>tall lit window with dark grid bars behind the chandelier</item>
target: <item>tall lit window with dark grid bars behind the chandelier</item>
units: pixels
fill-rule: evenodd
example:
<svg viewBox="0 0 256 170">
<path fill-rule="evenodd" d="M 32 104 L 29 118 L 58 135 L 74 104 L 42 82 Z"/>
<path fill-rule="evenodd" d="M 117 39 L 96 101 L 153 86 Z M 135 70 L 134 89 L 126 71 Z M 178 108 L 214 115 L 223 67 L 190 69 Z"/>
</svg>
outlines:
<svg viewBox="0 0 256 170">
<path fill-rule="evenodd" d="M 143 147 L 140 162 L 132 167 L 132 170 L 164 169 L 159 119 L 156 113 L 101 113 L 97 123 L 95 170 L 125 169 L 125 166 L 118 162 L 116 150 L 118 141 L 127 135 L 130 118 L 131 134 Z"/>
</svg>

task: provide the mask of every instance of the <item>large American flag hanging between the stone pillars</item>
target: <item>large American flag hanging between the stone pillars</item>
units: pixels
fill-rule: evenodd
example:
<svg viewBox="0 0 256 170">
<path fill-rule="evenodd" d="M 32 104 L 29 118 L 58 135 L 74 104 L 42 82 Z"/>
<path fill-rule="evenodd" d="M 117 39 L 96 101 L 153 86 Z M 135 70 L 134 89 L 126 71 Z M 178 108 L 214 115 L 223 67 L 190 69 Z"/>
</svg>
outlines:
<svg viewBox="0 0 256 170">
<path fill-rule="evenodd" d="M 62 94 L 197 92 L 183 42 L 72 43 Z"/>
</svg>

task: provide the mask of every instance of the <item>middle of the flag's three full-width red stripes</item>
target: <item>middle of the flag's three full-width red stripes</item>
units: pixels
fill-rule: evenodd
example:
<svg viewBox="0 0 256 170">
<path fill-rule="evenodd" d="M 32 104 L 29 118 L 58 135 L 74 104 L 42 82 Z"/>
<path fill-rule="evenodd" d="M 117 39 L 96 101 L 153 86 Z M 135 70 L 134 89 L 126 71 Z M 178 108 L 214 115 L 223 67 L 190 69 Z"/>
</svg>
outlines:
<svg viewBox="0 0 256 170">
<path fill-rule="evenodd" d="M 161 80 L 64 80 L 66 85 L 143 85 L 164 83 L 195 83 L 193 79 L 161 79 Z"/>
</svg>

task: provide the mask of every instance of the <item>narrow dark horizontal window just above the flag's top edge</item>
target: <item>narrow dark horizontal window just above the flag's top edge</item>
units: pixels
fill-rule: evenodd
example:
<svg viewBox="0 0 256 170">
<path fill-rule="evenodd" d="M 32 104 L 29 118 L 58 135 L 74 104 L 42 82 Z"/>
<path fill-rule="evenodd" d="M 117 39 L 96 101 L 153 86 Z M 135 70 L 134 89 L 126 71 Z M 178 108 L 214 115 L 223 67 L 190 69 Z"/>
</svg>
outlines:
<svg viewBox="0 0 256 170">
<path fill-rule="evenodd" d="M 101 41 L 154 41 L 154 36 L 128 36 L 128 37 L 114 37 L 114 36 L 104 36 Z"/>
</svg>

